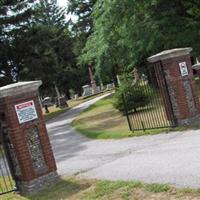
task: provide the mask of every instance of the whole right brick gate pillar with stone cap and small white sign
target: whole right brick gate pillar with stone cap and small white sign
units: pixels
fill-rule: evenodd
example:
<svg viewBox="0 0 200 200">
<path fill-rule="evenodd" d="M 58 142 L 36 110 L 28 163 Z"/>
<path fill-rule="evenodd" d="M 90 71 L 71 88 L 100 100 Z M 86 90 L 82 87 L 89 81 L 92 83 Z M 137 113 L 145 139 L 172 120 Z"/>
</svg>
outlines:
<svg viewBox="0 0 200 200">
<path fill-rule="evenodd" d="M 200 104 L 193 80 L 191 51 L 192 48 L 172 49 L 148 58 L 149 62 L 154 64 L 160 62 L 163 67 L 172 110 L 178 125 L 188 125 L 200 119 Z"/>
</svg>

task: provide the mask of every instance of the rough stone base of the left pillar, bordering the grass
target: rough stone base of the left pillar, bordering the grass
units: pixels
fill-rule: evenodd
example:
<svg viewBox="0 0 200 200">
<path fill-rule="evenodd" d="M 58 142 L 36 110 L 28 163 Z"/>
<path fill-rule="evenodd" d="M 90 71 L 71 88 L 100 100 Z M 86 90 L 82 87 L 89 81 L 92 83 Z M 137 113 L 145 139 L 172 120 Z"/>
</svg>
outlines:
<svg viewBox="0 0 200 200">
<path fill-rule="evenodd" d="M 59 176 L 55 171 L 31 181 L 18 182 L 18 189 L 20 190 L 21 194 L 30 195 L 37 193 L 45 189 L 47 186 L 55 184 L 58 181 Z"/>
</svg>

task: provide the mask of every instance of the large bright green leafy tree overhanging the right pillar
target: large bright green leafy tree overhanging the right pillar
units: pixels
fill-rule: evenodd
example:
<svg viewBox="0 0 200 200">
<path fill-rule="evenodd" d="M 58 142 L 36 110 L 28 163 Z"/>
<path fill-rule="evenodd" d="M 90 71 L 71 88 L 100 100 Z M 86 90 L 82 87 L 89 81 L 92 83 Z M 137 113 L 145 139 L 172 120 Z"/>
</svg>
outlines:
<svg viewBox="0 0 200 200">
<path fill-rule="evenodd" d="M 142 70 L 146 58 L 164 49 L 192 46 L 199 54 L 198 0 L 98 0 L 94 29 L 82 63 L 93 62 L 99 73 Z"/>
</svg>

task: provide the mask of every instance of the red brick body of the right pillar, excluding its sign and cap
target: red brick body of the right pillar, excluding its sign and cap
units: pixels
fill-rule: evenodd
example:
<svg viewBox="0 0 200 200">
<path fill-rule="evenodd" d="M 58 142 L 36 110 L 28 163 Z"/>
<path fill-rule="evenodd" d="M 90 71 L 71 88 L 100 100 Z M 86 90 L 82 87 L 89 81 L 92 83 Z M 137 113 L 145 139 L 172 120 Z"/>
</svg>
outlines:
<svg viewBox="0 0 200 200">
<path fill-rule="evenodd" d="M 188 76 L 181 76 L 179 63 L 186 62 Z M 188 124 L 190 120 L 199 117 L 200 105 L 196 86 L 193 81 L 193 72 L 190 55 L 169 58 L 162 61 L 170 99 L 175 117 L 179 124 Z"/>
</svg>

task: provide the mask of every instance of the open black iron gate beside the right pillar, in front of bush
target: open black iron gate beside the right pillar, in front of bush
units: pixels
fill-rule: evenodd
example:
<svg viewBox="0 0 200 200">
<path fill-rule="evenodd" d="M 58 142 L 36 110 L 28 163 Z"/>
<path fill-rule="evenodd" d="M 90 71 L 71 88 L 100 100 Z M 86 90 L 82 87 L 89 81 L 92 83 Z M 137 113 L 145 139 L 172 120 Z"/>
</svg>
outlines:
<svg viewBox="0 0 200 200">
<path fill-rule="evenodd" d="M 130 130 L 174 127 L 176 122 L 161 63 L 149 66 L 138 77 L 132 91 L 123 95 Z"/>
</svg>

